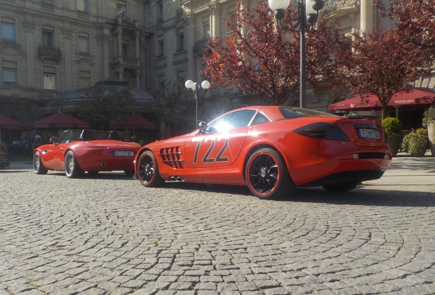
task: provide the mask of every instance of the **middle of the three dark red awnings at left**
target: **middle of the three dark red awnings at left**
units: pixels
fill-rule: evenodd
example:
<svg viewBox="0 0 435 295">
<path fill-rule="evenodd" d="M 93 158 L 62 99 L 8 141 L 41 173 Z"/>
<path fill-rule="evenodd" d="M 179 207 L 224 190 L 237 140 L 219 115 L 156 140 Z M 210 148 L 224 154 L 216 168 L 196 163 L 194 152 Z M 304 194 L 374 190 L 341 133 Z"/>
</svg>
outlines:
<svg viewBox="0 0 435 295">
<path fill-rule="evenodd" d="M 31 124 L 33 129 L 88 129 L 90 124 L 83 122 L 75 117 L 66 115 L 66 113 L 55 113 L 49 117 L 44 117 L 39 121 Z"/>
</svg>

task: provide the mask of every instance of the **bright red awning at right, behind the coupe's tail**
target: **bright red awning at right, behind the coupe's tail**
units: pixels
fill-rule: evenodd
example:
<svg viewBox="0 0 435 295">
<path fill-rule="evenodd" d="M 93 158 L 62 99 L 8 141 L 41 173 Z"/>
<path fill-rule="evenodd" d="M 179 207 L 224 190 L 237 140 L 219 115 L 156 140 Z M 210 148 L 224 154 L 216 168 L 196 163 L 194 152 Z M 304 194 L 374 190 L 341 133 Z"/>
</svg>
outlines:
<svg viewBox="0 0 435 295">
<path fill-rule="evenodd" d="M 341 102 L 330 104 L 330 111 L 378 111 L 381 109 L 380 101 L 377 96 L 369 95 L 365 98 L 367 103 L 360 103 L 360 96 L 349 98 Z M 387 104 L 387 109 L 399 110 L 406 109 L 427 109 L 435 103 L 435 93 L 427 92 L 420 89 L 412 89 L 408 93 L 397 93 Z"/>
</svg>

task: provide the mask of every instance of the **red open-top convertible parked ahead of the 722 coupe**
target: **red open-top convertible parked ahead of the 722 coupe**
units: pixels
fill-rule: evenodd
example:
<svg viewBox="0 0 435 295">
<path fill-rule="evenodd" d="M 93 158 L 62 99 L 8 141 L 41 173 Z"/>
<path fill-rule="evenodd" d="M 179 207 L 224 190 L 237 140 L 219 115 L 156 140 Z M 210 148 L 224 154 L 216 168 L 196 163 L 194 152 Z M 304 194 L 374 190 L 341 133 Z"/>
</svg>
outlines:
<svg viewBox="0 0 435 295">
<path fill-rule="evenodd" d="M 138 143 L 120 141 L 116 131 L 66 130 L 59 139 L 34 150 L 34 171 L 65 171 L 68 178 L 78 178 L 84 171 L 124 171 L 133 175 L 133 159 Z"/>
</svg>

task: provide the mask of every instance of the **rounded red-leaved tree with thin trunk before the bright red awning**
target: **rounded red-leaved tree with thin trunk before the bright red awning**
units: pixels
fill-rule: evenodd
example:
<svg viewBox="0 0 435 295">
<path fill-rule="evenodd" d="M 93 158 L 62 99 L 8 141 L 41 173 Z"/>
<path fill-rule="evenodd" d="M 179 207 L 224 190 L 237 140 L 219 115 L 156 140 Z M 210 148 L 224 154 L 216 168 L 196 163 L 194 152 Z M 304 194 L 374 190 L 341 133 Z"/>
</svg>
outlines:
<svg viewBox="0 0 435 295">
<path fill-rule="evenodd" d="M 357 31 L 347 50 L 336 55 L 341 79 L 335 81 L 353 94 L 378 97 L 382 120 L 386 105 L 396 92 L 408 92 L 425 70 L 425 60 L 414 54 L 410 44 L 397 42 L 395 29 L 363 33 Z"/>
</svg>

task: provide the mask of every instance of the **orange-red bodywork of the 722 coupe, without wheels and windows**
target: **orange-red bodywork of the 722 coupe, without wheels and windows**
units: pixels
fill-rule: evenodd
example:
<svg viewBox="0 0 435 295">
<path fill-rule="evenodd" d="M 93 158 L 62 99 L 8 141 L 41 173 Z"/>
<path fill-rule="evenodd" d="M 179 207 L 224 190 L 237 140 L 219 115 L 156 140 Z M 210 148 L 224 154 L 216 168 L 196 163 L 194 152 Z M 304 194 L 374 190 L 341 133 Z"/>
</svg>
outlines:
<svg viewBox="0 0 435 295">
<path fill-rule="evenodd" d="M 257 111 L 270 122 L 211 134 L 200 134 L 195 130 L 187 135 L 150 143 L 135 157 L 136 172 L 137 160 L 146 150 L 155 154 L 163 180 L 175 176 L 185 182 L 211 184 L 246 185 L 246 162 L 255 150 L 265 147 L 282 155 L 297 186 L 322 185 L 334 174 L 352 174 L 352 171 L 376 170 L 382 175 L 391 163 L 384 131 L 375 118 L 313 115 L 285 119 L 280 107 L 255 106 L 235 111 L 241 110 Z M 319 139 L 295 132 L 298 128 L 324 122 L 338 126 L 349 140 Z M 380 138 L 360 138 L 358 129 L 361 128 L 376 130 Z"/>
</svg>

